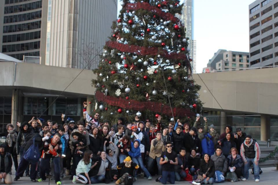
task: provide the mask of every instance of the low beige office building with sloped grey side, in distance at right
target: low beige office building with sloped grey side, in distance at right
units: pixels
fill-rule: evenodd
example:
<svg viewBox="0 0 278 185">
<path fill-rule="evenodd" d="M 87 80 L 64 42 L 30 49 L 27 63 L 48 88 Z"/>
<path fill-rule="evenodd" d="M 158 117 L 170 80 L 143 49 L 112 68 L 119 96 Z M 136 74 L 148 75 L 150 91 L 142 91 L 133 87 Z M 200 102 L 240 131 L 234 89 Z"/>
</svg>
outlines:
<svg viewBox="0 0 278 185">
<path fill-rule="evenodd" d="M 218 50 L 209 60 L 207 67 L 203 68 L 203 73 L 248 67 L 250 67 L 248 52 Z"/>
</svg>

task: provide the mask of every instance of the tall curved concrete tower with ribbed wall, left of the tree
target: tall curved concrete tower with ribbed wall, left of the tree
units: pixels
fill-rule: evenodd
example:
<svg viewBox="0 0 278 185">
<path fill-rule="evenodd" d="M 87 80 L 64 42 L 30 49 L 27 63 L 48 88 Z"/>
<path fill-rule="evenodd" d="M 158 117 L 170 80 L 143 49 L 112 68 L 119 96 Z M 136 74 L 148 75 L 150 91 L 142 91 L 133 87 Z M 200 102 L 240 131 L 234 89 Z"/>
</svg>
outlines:
<svg viewBox="0 0 278 185">
<path fill-rule="evenodd" d="M 117 18 L 116 0 L 2 0 L 0 6 L 0 51 L 19 60 L 40 56 L 40 64 L 58 67 L 83 69 L 84 50 L 96 55 Z"/>
</svg>

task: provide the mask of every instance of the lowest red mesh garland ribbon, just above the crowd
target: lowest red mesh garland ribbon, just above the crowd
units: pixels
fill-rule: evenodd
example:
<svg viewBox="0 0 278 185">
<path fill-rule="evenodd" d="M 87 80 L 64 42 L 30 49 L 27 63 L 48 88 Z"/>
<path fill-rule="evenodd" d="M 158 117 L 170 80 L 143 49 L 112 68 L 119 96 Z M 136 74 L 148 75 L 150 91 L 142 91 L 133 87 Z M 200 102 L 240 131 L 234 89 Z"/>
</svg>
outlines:
<svg viewBox="0 0 278 185">
<path fill-rule="evenodd" d="M 162 105 L 160 102 L 139 102 L 136 100 L 125 100 L 123 98 L 116 98 L 112 96 L 105 96 L 102 92 L 96 91 L 95 98 L 97 101 L 106 102 L 108 105 L 121 107 L 123 109 L 133 109 L 137 111 L 145 111 L 149 109 L 152 112 L 161 113 L 163 115 L 171 116 L 171 108 L 169 105 Z M 195 114 L 190 109 L 173 108 L 174 116 L 186 117 L 194 116 Z"/>
</svg>

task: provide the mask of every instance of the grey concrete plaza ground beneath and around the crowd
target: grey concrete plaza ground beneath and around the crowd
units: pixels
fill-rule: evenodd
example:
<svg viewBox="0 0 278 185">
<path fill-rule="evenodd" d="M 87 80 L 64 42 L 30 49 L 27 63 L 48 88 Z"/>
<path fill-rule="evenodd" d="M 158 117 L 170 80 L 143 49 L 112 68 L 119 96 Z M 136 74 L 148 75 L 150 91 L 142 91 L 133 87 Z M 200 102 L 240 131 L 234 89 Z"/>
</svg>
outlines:
<svg viewBox="0 0 278 185">
<path fill-rule="evenodd" d="M 240 182 L 224 182 L 221 184 L 227 184 L 227 185 L 255 185 L 255 184 L 264 184 L 264 185 L 277 185 L 278 184 L 278 171 L 275 170 L 275 167 L 270 168 L 262 168 L 263 173 L 260 175 L 260 182 L 256 183 L 254 179 L 254 175 L 250 173 L 248 181 L 240 181 Z M 12 171 L 12 178 L 14 178 L 15 171 Z M 153 177 L 151 181 L 138 177 L 138 180 L 134 182 L 133 184 L 160 184 L 159 182 L 156 182 L 155 179 L 157 177 Z M 63 179 L 62 184 L 72 184 L 72 181 L 69 180 L 69 177 Z M 3 183 L 3 181 L 2 181 Z M 111 182 L 110 184 L 114 184 L 114 182 Z M 14 181 L 12 184 L 40 184 L 40 185 L 48 185 L 48 184 L 55 184 L 55 181 L 50 180 L 43 181 L 43 182 L 31 182 L 29 177 L 21 177 L 18 181 Z M 81 184 L 81 183 L 77 183 Z M 169 184 L 169 183 L 167 183 Z M 189 184 L 189 181 L 182 181 L 182 182 L 175 182 L 175 184 Z M 104 183 L 101 183 L 101 185 L 104 185 Z"/>
</svg>

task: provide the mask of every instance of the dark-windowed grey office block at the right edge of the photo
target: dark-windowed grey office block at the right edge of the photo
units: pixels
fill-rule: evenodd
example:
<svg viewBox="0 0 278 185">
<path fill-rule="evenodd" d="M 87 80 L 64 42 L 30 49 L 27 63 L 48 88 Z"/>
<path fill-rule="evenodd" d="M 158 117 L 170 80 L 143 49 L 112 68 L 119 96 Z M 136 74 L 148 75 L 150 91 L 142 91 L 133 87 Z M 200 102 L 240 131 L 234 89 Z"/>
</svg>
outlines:
<svg viewBox="0 0 278 185">
<path fill-rule="evenodd" d="M 249 5 L 251 67 L 278 65 L 278 0 L 257 0 Z"/>
</svg>

